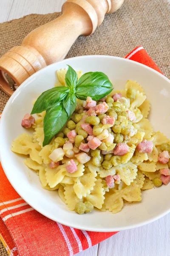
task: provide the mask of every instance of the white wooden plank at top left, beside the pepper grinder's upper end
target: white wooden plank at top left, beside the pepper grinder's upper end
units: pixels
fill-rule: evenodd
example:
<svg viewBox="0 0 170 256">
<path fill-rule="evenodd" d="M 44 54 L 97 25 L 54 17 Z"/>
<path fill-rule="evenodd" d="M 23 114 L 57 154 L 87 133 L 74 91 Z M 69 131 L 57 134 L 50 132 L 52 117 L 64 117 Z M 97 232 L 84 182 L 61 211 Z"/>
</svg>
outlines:
<svg viewBox="0 0 170 256">
<path fill-rule="evenodd" d="M 14 0 L 8 20 L 18 19 L 31 13 L 60 12 L 64 2 L 65 0 Z"/>
</svg>

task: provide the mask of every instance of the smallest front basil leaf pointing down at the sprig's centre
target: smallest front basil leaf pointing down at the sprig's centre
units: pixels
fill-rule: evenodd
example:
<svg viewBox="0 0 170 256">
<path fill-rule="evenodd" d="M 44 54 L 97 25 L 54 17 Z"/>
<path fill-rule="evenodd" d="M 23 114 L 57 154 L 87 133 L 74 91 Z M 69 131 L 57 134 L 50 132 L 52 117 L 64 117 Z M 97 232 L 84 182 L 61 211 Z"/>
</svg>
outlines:
<svg viewBox="0 0 170 256">
<path fill-rule="evenodd" d="M 63 106 L 68 114 L 68 117 L 72 115 L 77 105 L 77 99 L 75 94 L 68 94 L 63 100 Z"/>
</svg>

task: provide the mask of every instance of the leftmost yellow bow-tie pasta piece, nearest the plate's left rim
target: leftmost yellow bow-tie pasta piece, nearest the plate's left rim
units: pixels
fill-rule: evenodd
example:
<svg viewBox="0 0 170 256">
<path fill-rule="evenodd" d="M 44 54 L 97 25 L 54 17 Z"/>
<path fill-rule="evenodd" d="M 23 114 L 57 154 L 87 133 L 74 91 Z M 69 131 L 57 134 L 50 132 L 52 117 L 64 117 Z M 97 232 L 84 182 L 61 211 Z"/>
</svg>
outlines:
<svg viewBox="0 0 170 256">
<path fill-rule="evenodd" d="M 30 155 L 32 160 L 41 164 L 42 158 L 39 156 L 40 150 L 40 145 L 38 143 L 33 143 L 32 137 L 28 134 L 21 134 L 12 142 L 11 146 L 11 151 Z"/>
</svg>

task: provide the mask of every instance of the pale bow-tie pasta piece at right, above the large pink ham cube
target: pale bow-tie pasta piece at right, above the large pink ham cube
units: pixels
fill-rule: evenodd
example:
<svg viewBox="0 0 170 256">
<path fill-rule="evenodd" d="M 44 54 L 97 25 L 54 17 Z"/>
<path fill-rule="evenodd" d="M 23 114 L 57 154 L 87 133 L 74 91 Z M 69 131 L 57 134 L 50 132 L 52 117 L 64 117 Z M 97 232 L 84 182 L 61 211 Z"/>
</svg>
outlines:
<svg viewBox="0 0 170 256">
<path fill-rule="evenodd" d="M 140 122 L 133 125 L 139 132 L 144 132 L 144 139 L 150 140 L 153 134 L 153 127 L 147 118 L 143 118 Z"/>
</svg>

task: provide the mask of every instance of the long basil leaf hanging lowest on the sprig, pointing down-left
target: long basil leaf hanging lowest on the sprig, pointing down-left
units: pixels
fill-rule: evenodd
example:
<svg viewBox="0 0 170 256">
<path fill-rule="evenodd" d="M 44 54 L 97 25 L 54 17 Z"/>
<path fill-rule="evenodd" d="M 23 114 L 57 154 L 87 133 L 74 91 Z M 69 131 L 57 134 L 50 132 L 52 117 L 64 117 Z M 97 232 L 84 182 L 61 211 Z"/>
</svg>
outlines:
<svg viewBox="0 0 170 256">
<path fill-rule="evenodd" d="M 48 145 L 52 138 L 62 129 L 68 120 L 67 112 L 62 102 L 57 103 L 46 111 L 44 117 L 44 141 L 43 146 Z"/>
</svg>

